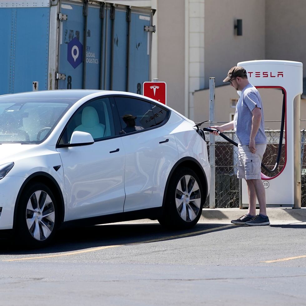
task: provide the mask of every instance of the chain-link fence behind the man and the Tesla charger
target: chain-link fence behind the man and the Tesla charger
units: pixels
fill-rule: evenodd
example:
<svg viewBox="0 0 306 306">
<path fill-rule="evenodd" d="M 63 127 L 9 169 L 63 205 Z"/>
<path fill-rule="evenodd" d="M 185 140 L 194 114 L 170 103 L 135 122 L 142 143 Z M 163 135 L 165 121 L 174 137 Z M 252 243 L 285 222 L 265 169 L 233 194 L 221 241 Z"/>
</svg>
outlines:
<svg viewBox="0 0 306 306">
<path fill-rule="evenodd" d="M 225 122 L 212 122 L 211 125 L 222 125 Z M 227 137 L 238 143 L 234 131 L 223 132 Z M 267 148 L 263 157 L 263 164 L 273 169 L 279 150 L 280 130 L 265 130 Z M 205 133 L 209 139 L 209 133 Z M 301 131 L 301 174 L 302 174 L 302 207 L 306 207 L 306 131 Z M 220 136 L 215 137 L 215 208 L 239 208 L 239 179 L 237 178 L 238 148 Z M 276 171 L 271 174 L 262 169 L 262 173 L 269 177 L 277 175 L 285 165 L 285 132 L 283 135 L 282 153 Z M 209 199 L 204 208 L 209 208 Z"/>
</svg>

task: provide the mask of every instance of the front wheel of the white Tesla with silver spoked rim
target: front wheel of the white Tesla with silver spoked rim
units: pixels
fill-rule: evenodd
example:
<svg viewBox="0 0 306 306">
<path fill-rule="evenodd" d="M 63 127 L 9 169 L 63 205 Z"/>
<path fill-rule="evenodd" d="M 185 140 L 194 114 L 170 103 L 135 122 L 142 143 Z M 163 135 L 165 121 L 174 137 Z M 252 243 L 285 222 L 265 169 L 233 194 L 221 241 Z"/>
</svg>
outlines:
<svg viewBox="0 0 306 306">
<path fill-rule="evenodd" d="M 28 248 L 45 247 L 58 227 L 57 201 L 44 184 L 34 183 L 26 188 L 18 205 L 15 238 Z"/>
</svg>

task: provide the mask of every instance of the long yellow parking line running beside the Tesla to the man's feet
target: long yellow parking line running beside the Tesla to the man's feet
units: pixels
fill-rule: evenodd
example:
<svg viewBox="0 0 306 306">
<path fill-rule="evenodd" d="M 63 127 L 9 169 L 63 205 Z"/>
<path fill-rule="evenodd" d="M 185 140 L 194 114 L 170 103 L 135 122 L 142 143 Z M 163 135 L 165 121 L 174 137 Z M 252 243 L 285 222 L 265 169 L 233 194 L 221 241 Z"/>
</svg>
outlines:
<svg viewBox="0 0 306 306">
<path fill-rule="evenodd" d="M 182 237 L 187 237 L 187 236 L 193 236 L 193 235 L 196 235 L 196 234 L 202 234 L 202 233 L 205 233 L 205 232 L 221 230 L 221 229 L 225 229 L 227 227 L 233 227 L 233 226 L 236 226 L 236 225 L 225 225 L 225 226 L 215 227 L 215 228 L 211 228 L 211 229 L 207 229 L 207 230 L 199 230 L 199 231 L 192 232 L 192 233 L 180 234 L 180 235 L 176 235 L 176 236 L 162 237 L 162 238 L 146 240 L 146 241 L 132 242 L 132 243 L 127 243 L 127 244 L 106 245 L 106 246 L 101 246 L 101 247 L 98 247 L 98 248 L 86 249 L 86 250 L 81 250 L 81 251 L 76 251 L 76 252 L 61 253 L 61 254 L 54 254 L 54 255 L 45 255 L 45 256 L 36 256 L 36 257 L 25 257 L 25 258 L 17 258 L 17 259 L 4 259 L 2 261 L 19 261 L 19 260 L 42 259 L 42 258 L 51 258 L 51 257 L 76 255 L 76 254 L 100 251 L 100 250 L 103 250 L 103 249 L 116 248 L 116 247 L 124 246 L 124 245 L 135 245 L 135 244 L 151 243 L 151 242 L 158 242 L 158 241 L 163 241 L 163 240 L 167 240 L 167 239 L 174 239 L 174 238 L 182 238 Z"/>
</svg>

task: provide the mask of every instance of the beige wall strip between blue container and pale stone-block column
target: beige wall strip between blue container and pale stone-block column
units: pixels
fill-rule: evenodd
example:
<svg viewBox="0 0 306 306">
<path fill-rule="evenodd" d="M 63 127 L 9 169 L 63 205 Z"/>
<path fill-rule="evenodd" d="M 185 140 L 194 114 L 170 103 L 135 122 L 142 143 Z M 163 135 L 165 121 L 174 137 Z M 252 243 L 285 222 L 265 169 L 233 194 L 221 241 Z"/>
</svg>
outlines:
<svg viewBox="0 0 306 306">
<path fill-rule="evenodd" d="M 185 113 L 185 0 L 157 1 L 157 71 L 167 105 Z"/>
</svg>

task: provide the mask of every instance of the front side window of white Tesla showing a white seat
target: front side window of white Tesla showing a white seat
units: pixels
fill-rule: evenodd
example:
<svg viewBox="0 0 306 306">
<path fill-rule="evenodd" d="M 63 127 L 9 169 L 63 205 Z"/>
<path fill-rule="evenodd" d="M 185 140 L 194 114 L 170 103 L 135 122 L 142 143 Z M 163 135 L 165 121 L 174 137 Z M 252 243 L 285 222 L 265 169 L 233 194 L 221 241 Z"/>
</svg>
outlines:
<svg viewBox="0 0 306 306">
<path fill-rule="evenodd" d="M 82 106 L 70 119 L 59 144 L 69 144 L 72 133 L 91 134 L 94 141 L 116 136 L 109 98 L 101 98 Z"/>
</svg>

